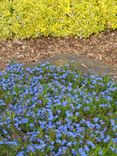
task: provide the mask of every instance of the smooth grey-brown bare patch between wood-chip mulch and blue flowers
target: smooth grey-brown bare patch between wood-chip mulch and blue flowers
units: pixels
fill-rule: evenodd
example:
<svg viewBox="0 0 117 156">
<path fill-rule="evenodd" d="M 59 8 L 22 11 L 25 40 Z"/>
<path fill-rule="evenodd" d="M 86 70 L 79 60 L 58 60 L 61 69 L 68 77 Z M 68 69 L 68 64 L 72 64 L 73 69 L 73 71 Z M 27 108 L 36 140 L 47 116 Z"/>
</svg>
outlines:
<svg viewBox="0 0 117 156">
<path fill-rule="evenodd" d="M 58 54 L 52 58 L 43 60 L 43 62 L 49 61 L 51 64 L 57 66 L 63 66 L 65 64 L 75 64 L 77 70 L 82 72 L 84 75 L 89 73 L 95 73 L 99 75 L 108 75 L 113 80 L 117 81 L 117 66 L 104 64 L 96 59 L 85 57 L 82 55 L 66 55 Z M 34 63 L 33 66 L 37 65 Z"/>
</svg>

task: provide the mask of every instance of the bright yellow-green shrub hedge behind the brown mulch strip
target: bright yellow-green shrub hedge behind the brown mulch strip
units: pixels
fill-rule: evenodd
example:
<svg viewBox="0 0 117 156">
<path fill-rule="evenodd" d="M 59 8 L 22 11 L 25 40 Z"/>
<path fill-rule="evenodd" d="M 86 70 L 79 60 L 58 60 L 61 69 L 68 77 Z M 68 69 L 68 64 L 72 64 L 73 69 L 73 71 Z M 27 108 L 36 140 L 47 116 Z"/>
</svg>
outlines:
<svg viewBox="0 0 117 156">
<path fill-rule="evenodd" d="M 0 0 L 0 38 L 88 37 L 117 29 L 117 0 Z"/>
</svg>

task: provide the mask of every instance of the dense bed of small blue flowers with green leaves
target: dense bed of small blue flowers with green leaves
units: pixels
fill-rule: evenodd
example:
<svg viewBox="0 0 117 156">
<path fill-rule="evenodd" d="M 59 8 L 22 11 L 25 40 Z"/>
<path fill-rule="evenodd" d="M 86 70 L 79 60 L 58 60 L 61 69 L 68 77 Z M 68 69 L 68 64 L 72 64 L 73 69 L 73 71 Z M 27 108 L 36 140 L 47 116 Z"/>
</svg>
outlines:
<svg viewBox="0 0 117 156">
<path fill-rule="evenodd" d="M 69 65 L 0 72 L 0 146 L 17 156 L 117 154 L 117 83 Z"/>
</svg>

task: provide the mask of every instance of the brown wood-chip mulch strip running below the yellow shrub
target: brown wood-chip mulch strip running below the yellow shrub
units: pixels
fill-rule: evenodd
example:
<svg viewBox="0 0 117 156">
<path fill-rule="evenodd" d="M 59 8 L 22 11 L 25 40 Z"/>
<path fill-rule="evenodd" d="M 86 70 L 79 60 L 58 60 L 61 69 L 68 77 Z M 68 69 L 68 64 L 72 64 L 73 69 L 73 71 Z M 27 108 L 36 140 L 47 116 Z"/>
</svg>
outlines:
<svg viewBox="0 0 117 156">
<path fill-rule="evenodd" d="M 64 60 L 65 54 L 71 58 L 77 56 L 80 64 L 86 64 L 92 70 L 109 68 L 103 71 L 106 70 L 107 74 L 113 73 L 117 77 L 117 70 L 113 72 L 113 69 L 117 68 L 117 30 L 92 35 L 88 39 L 40 37 L 0 41 L 0 69 L 4 69 L 13 60 L 31 65 L 51 57 L 56 57 L 57 60 L 61 56 Z"/>
</svg>

